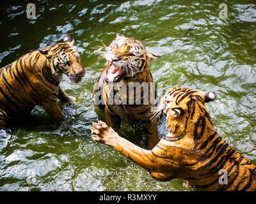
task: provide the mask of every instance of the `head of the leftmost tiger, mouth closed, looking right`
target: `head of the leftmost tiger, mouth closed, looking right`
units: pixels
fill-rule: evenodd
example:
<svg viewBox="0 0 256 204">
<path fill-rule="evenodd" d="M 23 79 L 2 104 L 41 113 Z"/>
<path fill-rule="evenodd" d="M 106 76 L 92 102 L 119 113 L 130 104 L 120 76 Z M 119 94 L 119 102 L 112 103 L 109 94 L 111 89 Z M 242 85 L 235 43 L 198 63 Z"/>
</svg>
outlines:
<svg viewBox="0 0 256 204">
<path fill-rule="evenodd" d="M 63 43 L 56 43 L 38 51 L 47 58 L 47 66 L 51 68 L 52 75 L 62 76 L 65 73 L 70 82 L 78 83 L 85 75 L 81 66 L 81 57 L 74 46 L 74 38 L 66 34 Z"/>
</svg>

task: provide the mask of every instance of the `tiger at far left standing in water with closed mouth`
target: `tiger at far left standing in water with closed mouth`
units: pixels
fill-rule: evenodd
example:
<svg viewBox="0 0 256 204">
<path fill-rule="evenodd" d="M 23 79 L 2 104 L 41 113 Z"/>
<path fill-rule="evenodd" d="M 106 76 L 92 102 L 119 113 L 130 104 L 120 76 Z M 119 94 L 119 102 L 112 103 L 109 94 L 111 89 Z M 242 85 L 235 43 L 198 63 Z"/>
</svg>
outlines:
<svg viewBox="0 0 256 204">
<path fill-rule="evenodd" d="M 72 101 L 60 87 L 63 73 L 72 83 L 80 82 L 85 74 L 69 34 L 63 43 L 39 48 L 1 68 L 0 128 L 8 120 L 30 113 L 36 105 L 43 106 L 53 119 L 63 120 L 56 100 Z"/>
</svg>

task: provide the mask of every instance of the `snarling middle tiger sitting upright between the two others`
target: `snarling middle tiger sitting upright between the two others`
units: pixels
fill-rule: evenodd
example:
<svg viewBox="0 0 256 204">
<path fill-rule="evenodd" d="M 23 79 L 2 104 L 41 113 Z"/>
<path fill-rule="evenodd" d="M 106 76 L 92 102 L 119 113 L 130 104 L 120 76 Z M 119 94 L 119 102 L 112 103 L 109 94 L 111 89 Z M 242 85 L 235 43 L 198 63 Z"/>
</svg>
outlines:
<svg viewBox="0 0 256 204">
<path fill-rule="evenodd" d="M 104 47 L 100 54 L 107 59 L 108 64 L 95 84 L 94 98 L 95 101 L 102 99 L 101 105 L 104 106 L 108 126 L 119 131 L 122 119 L 141 120 L 148 138 L 148 147 L 154 147 L 159 142 L 159 136 L 157 123 L 150 120 L 149 114 L 153 94 L 150 83 L 153 79 L 148 63 L 159 56 L 147 52 L 141 41 L 122 34 L 116 34 L 115 40 L 109 47 Z M 122 87 L 124 94 L 118 96 L 125 103 L 111 101 L 111 87 L 116 85 Z M 113 95 L 120 92 L 120 89 L 117 87 Z M 140 91 L 136 92 L 137 90 Z"/>
</svg>

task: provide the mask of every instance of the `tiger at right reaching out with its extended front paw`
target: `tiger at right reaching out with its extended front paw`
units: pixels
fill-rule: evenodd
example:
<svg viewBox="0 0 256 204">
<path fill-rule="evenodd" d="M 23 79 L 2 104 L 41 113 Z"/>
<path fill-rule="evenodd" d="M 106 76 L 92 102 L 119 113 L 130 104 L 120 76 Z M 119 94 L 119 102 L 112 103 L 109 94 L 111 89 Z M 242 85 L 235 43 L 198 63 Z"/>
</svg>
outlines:
<svg viewBox="0 0 256 204">
<path fill-rule="evenodd" d="M 166 115 L 168 134 L 152 150 L 132 144 L 101 121 L 93 123 L 92 138 L 111 145 L 156 180 L 185 179 L 203 191 L 255 191 L 256 166 L 214 131 L 205 103 L 215 98 L 213 91 L 167 91 L 154 113 Z"/>
</svg>

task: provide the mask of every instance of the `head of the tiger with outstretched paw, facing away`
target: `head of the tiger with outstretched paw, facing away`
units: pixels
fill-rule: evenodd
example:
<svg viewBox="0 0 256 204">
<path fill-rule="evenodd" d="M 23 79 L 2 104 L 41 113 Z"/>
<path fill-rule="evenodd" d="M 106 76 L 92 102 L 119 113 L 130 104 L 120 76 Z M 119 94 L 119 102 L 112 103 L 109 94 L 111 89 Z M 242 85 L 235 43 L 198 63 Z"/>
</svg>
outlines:
<svg viewBox="0 0 256 204">
<path fill-rule="evenodd" d="M 169 89 L 156 108 L 156 115 L 166 115 L 166 126 L 172 135 L 192 134 L 194 140 L 204 131 L 212 131 L 212 123 L 205 103 L 216 99 L 214 91 L 198 92 L 183 87 Z M 208 127 L 208 128 L 206 128 Z"/>
</svg>

